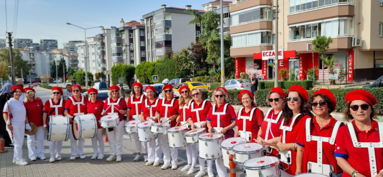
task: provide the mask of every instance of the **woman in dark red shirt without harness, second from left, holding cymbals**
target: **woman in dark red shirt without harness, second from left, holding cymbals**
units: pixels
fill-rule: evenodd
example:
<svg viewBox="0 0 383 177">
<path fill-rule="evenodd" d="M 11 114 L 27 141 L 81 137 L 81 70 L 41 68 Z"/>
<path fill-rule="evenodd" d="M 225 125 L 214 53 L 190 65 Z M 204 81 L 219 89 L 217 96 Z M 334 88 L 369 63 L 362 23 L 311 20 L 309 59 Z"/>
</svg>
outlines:
<svg viewBox="0 0 383 177">
<path fill-rule="evenodd" d="M 26 109 L 26 116 L 30 123 L 34 123 L 37 127 L 37 152 L 35 147 L 35 135 L 26 135 L 28 139 L 28 156 L 31 161 L 37 158 L 45 160 L 44 157 L 44 128 L 43 128 L 43 101 L 37 100 L 35 90 L 32 87 L 24 88 L 26 97 L 24 99 L 24 106 Z"/>
</svg>

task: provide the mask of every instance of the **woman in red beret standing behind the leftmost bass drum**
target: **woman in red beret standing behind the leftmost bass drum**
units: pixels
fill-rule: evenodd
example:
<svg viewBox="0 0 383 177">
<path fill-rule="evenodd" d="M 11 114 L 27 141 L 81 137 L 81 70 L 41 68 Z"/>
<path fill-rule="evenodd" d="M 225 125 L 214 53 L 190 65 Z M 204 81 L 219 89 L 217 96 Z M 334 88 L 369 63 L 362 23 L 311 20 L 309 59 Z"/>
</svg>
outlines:
<svg viewBox="0 0 383 177">
<path fill-rule="evenodd" d="M 53 115 L 64 115 L 64 106 L 65 100 L 61 96 L 63 95 L 63 90 L 61 87 L 55 86 L 52 88 L 51 99 L 47 100 L 43 108 L 43 124 L 44 130 L 48 130 L 47 125 L 49 125 L 47 117 Z M 50 159 L 49 162 L 54 162 L 55 160 L 61 160 L 61 150 L 63 148 L 63 141 L 50 141 L 49 142 L 49 152 Z"/>
</svg>

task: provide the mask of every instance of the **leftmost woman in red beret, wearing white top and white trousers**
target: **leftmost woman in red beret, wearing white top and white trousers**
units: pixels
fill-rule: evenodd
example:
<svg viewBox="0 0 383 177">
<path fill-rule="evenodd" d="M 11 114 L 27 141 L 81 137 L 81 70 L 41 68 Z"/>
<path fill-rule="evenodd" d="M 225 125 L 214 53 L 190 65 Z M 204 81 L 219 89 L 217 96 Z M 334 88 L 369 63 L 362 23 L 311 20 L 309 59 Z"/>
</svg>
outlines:
<svg viewBox="0 0 383 177">
<path fill-rule="evenodd" d="M 20 85 L 12 86 L 11 95 L 13 98 L 4 105 L 3 117 L 4 121 L 7 123 L 7 130 L 12 132 L 15 146 L 13 154 L 13 163 L 17 165 L 27 165 L 28 162 L 22 158 L 22 144 L 24 142 L 25 129 L 31 131 L 31 126 L 26 117 L 26 110 L 24 103 L 20 100 L 21 94 L 24 92 L 24 89 Z"/>
</svg>

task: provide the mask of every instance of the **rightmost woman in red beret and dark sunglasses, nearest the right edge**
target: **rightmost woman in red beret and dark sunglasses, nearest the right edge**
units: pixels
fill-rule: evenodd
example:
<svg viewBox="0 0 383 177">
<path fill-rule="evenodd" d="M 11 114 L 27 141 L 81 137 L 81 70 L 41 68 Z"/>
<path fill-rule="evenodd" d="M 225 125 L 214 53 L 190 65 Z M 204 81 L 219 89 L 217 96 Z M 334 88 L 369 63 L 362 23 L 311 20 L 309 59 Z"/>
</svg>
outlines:
<svg viewBox="0 0 383 177">
<path fill-rule="evenodd" d="M 376 122 L 372 107 L 376 98 L 365 90 L 348 92 L 344 121 L 335 141 L 335 157 L 343 175 L 352 177 L 383 176 L 383 123 Z"/>
</svg>

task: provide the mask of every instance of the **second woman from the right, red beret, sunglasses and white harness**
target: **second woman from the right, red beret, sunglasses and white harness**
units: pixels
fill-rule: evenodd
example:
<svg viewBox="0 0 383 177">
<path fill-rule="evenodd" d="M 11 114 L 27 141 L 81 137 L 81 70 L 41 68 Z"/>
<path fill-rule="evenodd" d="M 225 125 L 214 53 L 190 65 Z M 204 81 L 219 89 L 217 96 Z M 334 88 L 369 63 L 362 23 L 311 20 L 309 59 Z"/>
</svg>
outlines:
<svg viewBox="0 0 383 177">
<path fill-rule="evenodd" d="M 336 99 L 331 91 L 321 88 L 310 97 L 310 103 L 315 116 L 306 119 L 298 134 L 296 174 L 315 172 L 341 176 L 334 149 L 336 134 L 343 123 L 330 115 L 336 108 Z"/>
</svg>

